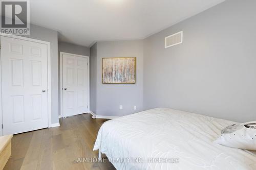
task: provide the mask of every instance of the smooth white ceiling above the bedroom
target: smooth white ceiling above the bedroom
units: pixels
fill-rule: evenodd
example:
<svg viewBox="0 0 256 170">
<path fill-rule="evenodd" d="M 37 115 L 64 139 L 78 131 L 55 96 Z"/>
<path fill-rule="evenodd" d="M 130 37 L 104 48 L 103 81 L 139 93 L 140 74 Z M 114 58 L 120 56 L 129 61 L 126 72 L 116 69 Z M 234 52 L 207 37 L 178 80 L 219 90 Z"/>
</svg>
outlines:
<svg viewBox="0 0 256 170">
<path fill-rule="evenodd" d="M 31 23 L 59 41 L 143 39 L 225 0 L 30 0 Z"/>
</svg>

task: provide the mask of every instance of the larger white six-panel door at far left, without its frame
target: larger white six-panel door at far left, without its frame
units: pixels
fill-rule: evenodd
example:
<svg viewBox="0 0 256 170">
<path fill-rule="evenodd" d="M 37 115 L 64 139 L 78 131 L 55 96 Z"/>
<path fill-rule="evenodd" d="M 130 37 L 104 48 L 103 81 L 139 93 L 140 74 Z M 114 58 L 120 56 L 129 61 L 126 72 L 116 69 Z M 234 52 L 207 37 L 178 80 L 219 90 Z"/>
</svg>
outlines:
<svg viewBox="0 0 256 170">
<path fill-rule="evenodd" d="M 48 127 L 47 45 L 1 36 L 4 135 Z"/>
</svg>

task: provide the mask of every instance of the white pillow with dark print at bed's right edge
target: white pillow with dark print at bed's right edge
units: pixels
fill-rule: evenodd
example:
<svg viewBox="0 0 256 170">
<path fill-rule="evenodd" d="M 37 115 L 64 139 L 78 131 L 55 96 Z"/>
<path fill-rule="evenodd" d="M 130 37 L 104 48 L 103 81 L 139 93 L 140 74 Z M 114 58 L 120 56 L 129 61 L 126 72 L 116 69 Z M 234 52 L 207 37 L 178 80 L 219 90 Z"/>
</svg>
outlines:
<svg viewBox="0 0 256 170">
<path fill-rule="evenodd" d="M 228 126 L 214 142 L 227 147 L 256 151 L 256 121 Z"/>
</svg>

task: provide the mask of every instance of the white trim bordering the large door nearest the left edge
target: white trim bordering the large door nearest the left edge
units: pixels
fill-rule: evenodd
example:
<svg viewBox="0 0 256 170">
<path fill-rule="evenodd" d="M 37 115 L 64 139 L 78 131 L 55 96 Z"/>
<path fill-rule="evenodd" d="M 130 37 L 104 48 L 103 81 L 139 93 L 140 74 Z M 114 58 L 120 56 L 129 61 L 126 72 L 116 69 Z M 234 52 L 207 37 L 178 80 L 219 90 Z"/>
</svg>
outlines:
<svg viewBox="0 0 256 170">
<path fill-rule="evenodd" d="M 11 34 L 3 34 L 1 33 L 0 36 L 4 37 L 9 37 L 9 38 L 15 38 L 19 40 L 25 40 L 25 41 L 31 41 L 31 42 L 37 42 L 41 44 L 46 44 L 47 45 L 47 83 L 48 83 L 48 128 L 52 126 L 52 103 L 51 103 L 51 43 L 48 41 L 41 41 L 38 39 L 33 39 L 33 38 L 27 38 L 27 37 L 22 37 L 22 36 L 17 36 L 17 35 L 11 35 Z M 1 68 L 1 66 L 0 66 Z M 0 75 L 0 80 L 2 76 Z M 0 102 L 2 104 L 2 95 Z M 1 110 L 1 116 L 3 116 L 3 112 Z M 2 120 L 3 121 L 3 120 Z M 0 134 L 1 135 L 1 134 Z"/>
</svg>

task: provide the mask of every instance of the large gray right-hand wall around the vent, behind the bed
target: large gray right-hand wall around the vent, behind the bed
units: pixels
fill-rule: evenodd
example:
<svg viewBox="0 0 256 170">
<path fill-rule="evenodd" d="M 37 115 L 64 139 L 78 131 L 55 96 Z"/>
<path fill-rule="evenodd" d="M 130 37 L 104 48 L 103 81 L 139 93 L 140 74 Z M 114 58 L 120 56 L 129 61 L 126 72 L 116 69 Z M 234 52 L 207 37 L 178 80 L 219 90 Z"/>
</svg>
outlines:
<svg viewBox="0 0 256 170">
<path fill-rule="evenodd" d="M 144 109 L 256 119 L 256 1 L 229 0 L 144 40 Z M 164 37 L 183 30 L 183 43 Z"/>
</svg>

